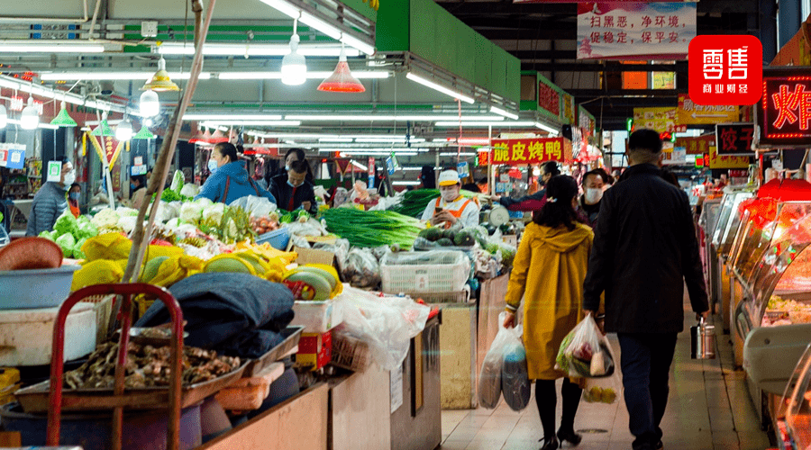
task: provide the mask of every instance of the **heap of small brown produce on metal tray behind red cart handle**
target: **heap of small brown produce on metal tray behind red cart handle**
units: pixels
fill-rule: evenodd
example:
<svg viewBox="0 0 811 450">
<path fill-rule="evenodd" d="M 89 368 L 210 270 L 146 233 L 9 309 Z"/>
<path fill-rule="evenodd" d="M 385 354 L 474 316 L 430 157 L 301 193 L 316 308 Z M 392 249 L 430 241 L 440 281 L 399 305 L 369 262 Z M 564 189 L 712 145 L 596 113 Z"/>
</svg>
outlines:
<svg viewBox="0 0 811 450">
<path fill-rule="evenodd" d="M 113 389 L 118 344 L 108 342 L 96 348 L 87 363 L 65 374 L 66 389 Z M 169 386 L 170 347 L 129 343 L 125 365 L 125 388 Z M 240 366 L 239 357 L 217 356 L 214 350 L 183 347 L 182 383 L 203 383 L 228 374 Z"/>
</svg>

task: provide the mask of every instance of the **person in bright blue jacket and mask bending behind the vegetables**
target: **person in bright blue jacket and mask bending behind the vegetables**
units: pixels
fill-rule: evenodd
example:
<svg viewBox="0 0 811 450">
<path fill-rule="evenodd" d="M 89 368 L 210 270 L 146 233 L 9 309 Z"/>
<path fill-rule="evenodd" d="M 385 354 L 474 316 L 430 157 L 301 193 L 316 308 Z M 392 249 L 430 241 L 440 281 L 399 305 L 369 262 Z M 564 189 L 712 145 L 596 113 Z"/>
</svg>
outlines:
<svg viewBox="0 0 811 450">
<path fill-rule="evenodd" d="M 231 142 L 220 142 L 214 146 L 208 159 L 208 170 L 211 176 L 205 180 L 195 200 L 207 198 L 212 202 L 231 204 L 247 195 L 256 195 L 276 202 L 276 197 L 253 181 Z"/>
</svg>

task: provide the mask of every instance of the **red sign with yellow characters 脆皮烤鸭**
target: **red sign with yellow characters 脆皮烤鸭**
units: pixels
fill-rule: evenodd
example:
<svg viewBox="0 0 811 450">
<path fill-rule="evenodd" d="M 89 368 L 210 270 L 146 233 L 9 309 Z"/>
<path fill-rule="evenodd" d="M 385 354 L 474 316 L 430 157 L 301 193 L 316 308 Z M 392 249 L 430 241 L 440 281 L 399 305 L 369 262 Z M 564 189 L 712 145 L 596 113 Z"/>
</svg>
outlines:
<svg viewBox="0 0 811 450">
<path fill-rule="evenodd" d="M 493 164 L 519 166 L 570 161 L 571 141 L 564 138 L 493 139 Z"/>
</svg>

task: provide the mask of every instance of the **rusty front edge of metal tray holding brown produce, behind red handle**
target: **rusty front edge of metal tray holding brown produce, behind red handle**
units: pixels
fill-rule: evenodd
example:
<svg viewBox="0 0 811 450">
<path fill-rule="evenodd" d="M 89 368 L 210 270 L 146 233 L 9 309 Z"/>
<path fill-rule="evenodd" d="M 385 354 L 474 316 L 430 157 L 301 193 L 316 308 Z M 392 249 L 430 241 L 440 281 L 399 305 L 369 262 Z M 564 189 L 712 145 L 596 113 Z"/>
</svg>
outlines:
<svg viewBox="0 0 811 450">
<path fill-rule="evenodd" d="M 220 392 L 239 380 L 249 364 L 251 363 L 244 363 L 233 372 L 214 380 L 184 386 L 180 407 L 186 408 Z M 47 412 L 50 408 L 49 396 L 50 381 L 34 384 L 14 392 L 14 398 L 23 405 L 25 412 Z M 169 386 L 132 388 L 124 391 L 123 395 L 115 395 L 112 389 L 64 389 L 62 391 L 63 411 L 113 410 L 115 407 L 123 407 L 126 410 L 169 408 Z"/>
</svg>

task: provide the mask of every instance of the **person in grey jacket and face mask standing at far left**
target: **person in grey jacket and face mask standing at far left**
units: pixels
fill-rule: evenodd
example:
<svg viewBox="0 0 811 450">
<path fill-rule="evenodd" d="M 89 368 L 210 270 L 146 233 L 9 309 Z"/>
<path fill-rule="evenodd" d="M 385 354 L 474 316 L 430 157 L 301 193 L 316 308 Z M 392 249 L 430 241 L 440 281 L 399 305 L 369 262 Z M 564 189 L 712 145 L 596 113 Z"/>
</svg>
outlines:
<svg viewBox="0 0 811 450">
<path fill-rule="evenodd" d="M 57 218 L 68 208 L 66 192 L 74 181 L 76 172 L 73 170 L 73 164 L 67 157 L 63 157 L 59 183 L 49 181 L 42 184 L 40 192 L 34 195 L 25 236 L 39 236 L 42 231 L 53 229 Z"/>
</svg>

